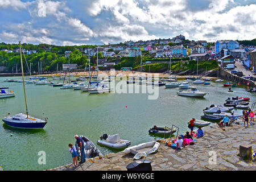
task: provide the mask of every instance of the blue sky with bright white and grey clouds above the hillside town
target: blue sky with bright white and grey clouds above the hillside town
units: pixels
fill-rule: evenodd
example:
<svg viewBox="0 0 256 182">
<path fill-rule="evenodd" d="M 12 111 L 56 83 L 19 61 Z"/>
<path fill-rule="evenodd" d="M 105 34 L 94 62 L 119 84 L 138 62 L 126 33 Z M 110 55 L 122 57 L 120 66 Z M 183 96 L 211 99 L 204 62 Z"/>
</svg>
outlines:
<svg viewBox="0 0 256 182">
<path fill-rule="evenodd" d="M 256 0 L 0 0 L 0 42 L 57 46 L 129 40 L 251 40 Z"/>
</svg>

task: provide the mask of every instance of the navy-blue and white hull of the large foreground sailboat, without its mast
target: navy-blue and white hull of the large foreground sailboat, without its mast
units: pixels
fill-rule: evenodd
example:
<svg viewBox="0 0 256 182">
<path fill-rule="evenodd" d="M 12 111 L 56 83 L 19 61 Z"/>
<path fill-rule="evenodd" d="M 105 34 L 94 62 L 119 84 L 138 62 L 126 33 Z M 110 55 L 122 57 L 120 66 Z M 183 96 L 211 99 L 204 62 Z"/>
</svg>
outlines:
<svg viewBox="0 0 256 182">
<path fill-rule="evenodd" d="M 31 117 L 30 115 L 27 116 L 22 113 L 9 115 L 3 118 L 3 122 L 11 127 L 22 129 L 42 129 L 47 124 L 47 121 Z"/>
</svg>

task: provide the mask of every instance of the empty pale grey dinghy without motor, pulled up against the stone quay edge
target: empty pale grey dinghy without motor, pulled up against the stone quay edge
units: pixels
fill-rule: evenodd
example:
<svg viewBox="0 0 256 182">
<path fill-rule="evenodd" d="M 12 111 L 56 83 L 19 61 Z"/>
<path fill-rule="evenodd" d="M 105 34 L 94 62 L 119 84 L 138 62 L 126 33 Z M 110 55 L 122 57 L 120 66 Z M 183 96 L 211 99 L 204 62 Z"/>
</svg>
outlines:
<svg viewBox="0 0 256 182">
<path fill-rule="evenodd" d="M 133 155 L 137 155 L 138 153 L 144 152 L 144 154 L 148 155 L 158 151 L 159 146 L 160 146 L 160 143 L 156 141 L 152 141 L 152 142 L 141 143 L 133 147 L 128 147 L 125 150 L 123 150 L 123 152 L 125 154 L 131 153 Z"/>
</svg>

